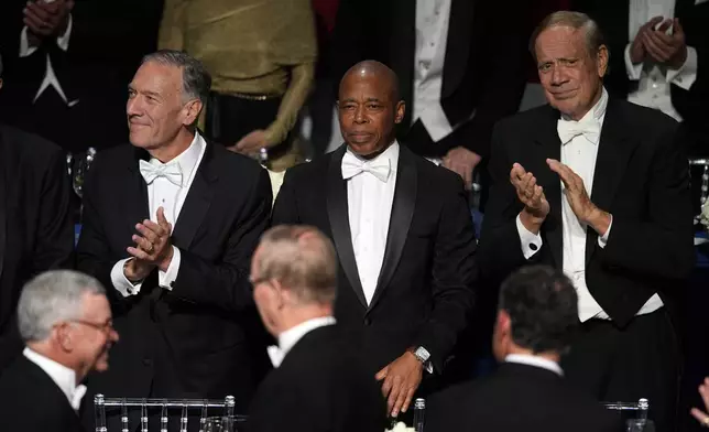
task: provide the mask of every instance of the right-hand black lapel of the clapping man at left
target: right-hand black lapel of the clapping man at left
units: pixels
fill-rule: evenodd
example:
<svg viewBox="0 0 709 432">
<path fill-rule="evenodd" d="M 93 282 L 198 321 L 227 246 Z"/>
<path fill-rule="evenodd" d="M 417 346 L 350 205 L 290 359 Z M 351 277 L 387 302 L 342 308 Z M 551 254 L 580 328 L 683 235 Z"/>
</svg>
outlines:
<svg viewBox="0 0 709 432">
<path fill-rule="evenodd" d="M 187 192 L 185 203 L 173 229 L 172 241 L 179 249 L 189 249 L 192 240 L 195 238 L 195 234 L 201 226 L 201 222 L 211 204 L 214 192 L 210 184 L 217 180 L 217 172 L 214 166 L 216 164 L 215 151 L 215 144 L 207 142 L 205 155 L 197 168 L 197 173 L 192 181 L 189 192 Z"/>
</svg>

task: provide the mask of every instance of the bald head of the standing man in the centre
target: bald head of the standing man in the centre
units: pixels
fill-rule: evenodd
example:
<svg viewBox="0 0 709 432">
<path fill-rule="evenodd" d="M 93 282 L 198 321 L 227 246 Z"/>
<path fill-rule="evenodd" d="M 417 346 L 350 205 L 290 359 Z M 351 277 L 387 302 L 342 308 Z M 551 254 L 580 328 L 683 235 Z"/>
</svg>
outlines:
<svg viewBox="0 0 709 432">
<path fill-rule="evenodd" d="M 404 118 L 399 78 L 384 64 L 366 61 L 350 67 L 340 82 L 340 131 L 356 154 L 372 159 L 394 142 L 394 125 Z"/>
</svg>

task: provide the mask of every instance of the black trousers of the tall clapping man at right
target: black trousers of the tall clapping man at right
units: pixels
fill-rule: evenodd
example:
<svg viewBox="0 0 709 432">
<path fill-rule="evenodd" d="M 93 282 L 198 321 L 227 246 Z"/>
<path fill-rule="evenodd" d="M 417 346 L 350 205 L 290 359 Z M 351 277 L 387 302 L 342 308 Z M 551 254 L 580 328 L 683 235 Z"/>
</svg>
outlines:
<svg viewBox="0 0 709 432">
<path fill-rule="evenodd" d="M 581 324 L 561 360 L 568 380 L 599 401 L 650 401 L 657 432 L 676 430 L 680 350 L 665 307 L 636 316 L 625 328 L 613 322 Z"/>
</svg>

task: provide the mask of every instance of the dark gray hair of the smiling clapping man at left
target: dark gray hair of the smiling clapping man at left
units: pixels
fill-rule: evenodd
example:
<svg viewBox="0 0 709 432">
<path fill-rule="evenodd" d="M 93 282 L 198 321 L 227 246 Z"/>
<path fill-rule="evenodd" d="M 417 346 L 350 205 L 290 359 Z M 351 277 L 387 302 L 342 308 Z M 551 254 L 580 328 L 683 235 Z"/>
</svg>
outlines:
<svg viewBox="0 0 709 432">
<path fill-rule="evenodd" d="M 207 104 L 211 88 L 211 76 L 197 58 L 182 51 L 161 50 L 145 55 L 141 65 L 148 62 L 179 67 L 182 69 L 183 99 L 199 99 L 203 104 Z"/>
</svg>

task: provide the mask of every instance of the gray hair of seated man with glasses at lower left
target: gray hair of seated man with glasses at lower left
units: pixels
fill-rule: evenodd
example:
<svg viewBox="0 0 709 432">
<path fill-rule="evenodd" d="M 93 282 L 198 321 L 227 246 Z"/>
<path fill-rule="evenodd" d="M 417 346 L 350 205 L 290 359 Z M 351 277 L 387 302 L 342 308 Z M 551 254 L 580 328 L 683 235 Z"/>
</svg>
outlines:
<svg viewBox="0 0 709 432">
<path fill-rule="evenodd" d="M 72 270 L 44 272 L 25 283 L 18 304 L 18 326 L 24 342 L 44 341 L 52 327 L 81 317 L 84 294 L 106 294 L 95 278 Z"/>
</svg>

